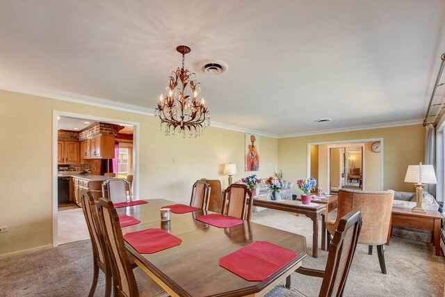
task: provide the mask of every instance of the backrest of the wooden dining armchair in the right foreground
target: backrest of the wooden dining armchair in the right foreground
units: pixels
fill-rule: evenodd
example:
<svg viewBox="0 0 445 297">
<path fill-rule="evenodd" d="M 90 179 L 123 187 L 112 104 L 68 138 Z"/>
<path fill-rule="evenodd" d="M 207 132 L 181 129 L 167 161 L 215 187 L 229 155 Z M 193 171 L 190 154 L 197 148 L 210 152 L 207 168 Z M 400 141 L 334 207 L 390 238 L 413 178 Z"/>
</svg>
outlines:
<svg viewBox="0 0 445 297">
<path fill-rule="evenodd" d="M 325 275 L 318 296 L 343 296 L 361 229 L 362 216 L 359 211 L 350 211 L 339 220 L 329 247 Z"/>
</svg>

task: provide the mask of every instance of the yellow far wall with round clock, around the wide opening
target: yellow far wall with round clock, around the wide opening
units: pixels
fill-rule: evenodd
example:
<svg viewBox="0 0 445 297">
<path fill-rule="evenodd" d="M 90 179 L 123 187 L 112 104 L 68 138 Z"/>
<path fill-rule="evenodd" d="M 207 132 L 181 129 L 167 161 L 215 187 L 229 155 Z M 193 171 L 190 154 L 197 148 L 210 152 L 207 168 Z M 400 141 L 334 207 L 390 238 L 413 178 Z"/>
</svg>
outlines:
<svg viewBox="0 0 445 297">
<path fill-rule="evenodd" d="M 384 183 L 383 188 L 391 188 L 396 191 L 413 191 L 412 184 L 403 182 L 407 166 L 423 161 L 425 145 L 425 129 L 422 125 L 410 125 L 403 127 L 391 127 L 381 129 L 367 129 L 359 131 L 348 131 L 335 134 L 319 134 L 312 136 L 301 136 L 278 139 L 278 168 L 283 170 L 289 181 L 307 176 L 307 144 L 323 143 L 330 141 L 345 141 L 355 139 L 383 138 L 384 147 Z M 378 157 L 378 153 L 369 152 L 366 145 L 366 156 Z M 325 150 L 322 145 L 318 147 L 318 163 L 323 162 Z M 366 160 L 366 167 L 371 161 Z M 380 163 L 379 163 L 380 164 Z M 367 170 L 368 168 L 366 168 Z M 372 172 L 380 171 L 380 165 L 372 168 Z M 370 176 L 370 175 L 369 175 Z M 368 178 L 366 184 L 368 184 Z M 327 188 L 327 172 L 319 168 L 318 179 L 323 191 Z M 369 182 L 373 184 L 374 182 Z M 294 187 L 295 188 L 295 187 Z M 366 186 L 368 188 L 368 186 Z M 294 193 L 297 191 L 294 189 Z"/>
</svg>

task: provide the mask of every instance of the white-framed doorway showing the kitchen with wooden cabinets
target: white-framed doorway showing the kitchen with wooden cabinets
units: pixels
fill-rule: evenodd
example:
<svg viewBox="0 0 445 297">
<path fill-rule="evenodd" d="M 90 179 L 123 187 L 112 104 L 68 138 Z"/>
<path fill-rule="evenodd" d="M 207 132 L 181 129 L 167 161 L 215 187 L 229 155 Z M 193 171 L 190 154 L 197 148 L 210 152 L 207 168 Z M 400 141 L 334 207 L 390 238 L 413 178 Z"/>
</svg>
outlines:
<svg viewBox="0 0 445 297">
<path fill-rule="evenodd" d="M 110 135 L 106 135 L 111 130 Z M 97 132 L 97 130 L 99 132 Z M 133 198 L 138 197 L 138 123 L 93 118 L 54 111 L 53 113 L 53 246 L 89 239 L 88 228 L 79 199 L 75 195 L 73 176 L 88 179 L 88 175 L 115 174 L 115 177 L 132 177 Z M 110 146 L 102 146 L 102 156 L 86 156 L 87 141 L 99 134 L 109 138 Z M 86 136 L 88 135 L 88 136 Z M 121 154 L 122 150 L 122 154 Z M 85 151 L 85 152 L 83 152 Z M 108 152 L 108 153 L 106 153 Z M 108 154 L 108 155 L 106 155 Z M 119 163 L 119 164 L 118 164 Z M 81 175 L 86 174 L 86 175 Z"/>
</svg>

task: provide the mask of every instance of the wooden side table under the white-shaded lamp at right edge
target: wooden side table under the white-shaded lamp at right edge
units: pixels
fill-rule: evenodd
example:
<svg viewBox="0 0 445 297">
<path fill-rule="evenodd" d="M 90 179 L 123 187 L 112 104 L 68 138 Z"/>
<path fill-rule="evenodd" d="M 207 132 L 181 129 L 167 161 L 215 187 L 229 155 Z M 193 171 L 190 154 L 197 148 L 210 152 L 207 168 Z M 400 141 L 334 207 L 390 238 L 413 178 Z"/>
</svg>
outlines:
<svg viewBox="0 0 445 297">
<path fill-rule="evenodd" d="M 412 212 L 410 208 L 393 207 L 387 245 L 392 236 L 392 226 L 409 227 L 432 232 L 436 256 L 440 256 L 440 222 L 444 218 L 439 211 L 427 211 L 426 214 Z"/>
</svg>

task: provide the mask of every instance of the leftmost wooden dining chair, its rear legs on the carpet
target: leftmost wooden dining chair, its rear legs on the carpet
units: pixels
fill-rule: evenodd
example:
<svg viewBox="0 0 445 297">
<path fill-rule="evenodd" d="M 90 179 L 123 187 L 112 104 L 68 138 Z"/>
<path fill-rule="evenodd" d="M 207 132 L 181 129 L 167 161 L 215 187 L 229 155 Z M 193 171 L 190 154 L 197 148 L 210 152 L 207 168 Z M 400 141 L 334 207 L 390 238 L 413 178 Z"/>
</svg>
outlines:
<svg viewBox="0 0 445 297">
<path fill-rule="evenodd" d="M 99 278 L 99 268 L 105 275 L 105 296 L 108 297 L 111 296 L 111 267 L 106 252 L 104 234 L 102 234 L 102 230 L 99 227 L 99 217 L 97 216 L 95 200 L 88 190 L 82 189 L 79 195 L 81 196 L 83 215 L 85 216 L 92 246 L 93 275 L 88 297 L 92 297 L 95 294 L 97 279 Z"/>
</svg>

